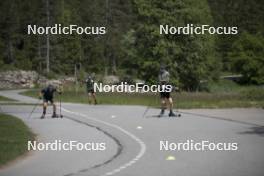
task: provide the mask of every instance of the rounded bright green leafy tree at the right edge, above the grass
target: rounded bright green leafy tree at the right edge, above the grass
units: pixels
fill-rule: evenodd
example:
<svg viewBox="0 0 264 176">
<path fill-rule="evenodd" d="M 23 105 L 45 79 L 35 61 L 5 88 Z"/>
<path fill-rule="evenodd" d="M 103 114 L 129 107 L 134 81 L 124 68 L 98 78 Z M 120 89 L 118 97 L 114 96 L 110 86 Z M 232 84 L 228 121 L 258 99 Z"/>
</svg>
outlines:
<svg viewBox="0 0 264 176">
<path fill-rule="evenodd" d="M 243 32 L 231 47 L 228 57 L 243 83 L 264 84 L 264 37 Z"/>
</svg>

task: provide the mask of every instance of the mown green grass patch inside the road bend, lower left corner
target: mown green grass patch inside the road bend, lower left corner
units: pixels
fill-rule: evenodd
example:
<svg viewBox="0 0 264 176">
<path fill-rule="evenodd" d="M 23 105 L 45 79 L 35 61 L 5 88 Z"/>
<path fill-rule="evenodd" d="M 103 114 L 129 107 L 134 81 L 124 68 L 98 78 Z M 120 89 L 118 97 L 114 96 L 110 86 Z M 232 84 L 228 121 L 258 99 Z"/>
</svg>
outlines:
<svg viewBox="0 0 264 176">
<path fill-rule="evenodd" d="M 34 135 L 20 119 L 0 113 L 0 166 L 27 151 Z"/>
</svg>

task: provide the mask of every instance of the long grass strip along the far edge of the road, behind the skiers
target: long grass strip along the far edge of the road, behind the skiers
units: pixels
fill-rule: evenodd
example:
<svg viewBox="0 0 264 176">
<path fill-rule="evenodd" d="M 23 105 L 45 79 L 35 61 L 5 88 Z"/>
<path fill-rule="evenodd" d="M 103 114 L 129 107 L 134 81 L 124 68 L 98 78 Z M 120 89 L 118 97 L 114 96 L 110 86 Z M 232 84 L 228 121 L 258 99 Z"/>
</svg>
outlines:
<svg viewBox="0 0 264 176">
<path fill-rule="evenodd" d="M 24 95 L 37 97 L 37 90 L 30 90 Z M 232 107 L 264 107 L 263 87 L 242 87 L 230 82 L 223 85 L 212 85 L 209 92 L 173 93 L 177 108 L 232 108 Z M 88 103 L 85 88 L 78 91 L 67 87 L 64 89 L 62 101 L 73 103 Z M 155 93 L 97 93 L 99 104 L 115 105 L 150 105 L 159 107 L 159 95 Z M 57 98 L 58 99 L 58 98 Z"/>
</svg>

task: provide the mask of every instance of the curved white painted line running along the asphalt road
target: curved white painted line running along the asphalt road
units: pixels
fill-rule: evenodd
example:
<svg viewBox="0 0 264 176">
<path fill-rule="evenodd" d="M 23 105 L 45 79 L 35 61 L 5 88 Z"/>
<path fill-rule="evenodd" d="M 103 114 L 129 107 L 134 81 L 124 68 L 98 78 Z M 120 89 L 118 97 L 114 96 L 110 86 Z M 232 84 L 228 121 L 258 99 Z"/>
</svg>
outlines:
<svg viewBox="0 0 264 176">
<path fill-rule="evenodd" d="M 116 129 L 120 130 L 121 132 L 125 133 L 126 135 L 128 135 L 129 137 L 131 137 L 133 140 L 135 140 L 139 144 L 140 151 L 136 155 L 135 158 L 133 158 L 132 160 L 130 160 L 128 163 L 125 163 L 125 164 L 119 166 L 117 169 L 114 169 L 113 171 L 110 171 L 110 172 L 107 172 L 105 174 L 102 174 L 101 176 L 114 175 L 114 174 L 122 171 L 123 169 L 131 166 L 132 164 L 136 163 L 145 154 L 146 149 L 147 149 L 146 144 L 141 139 L 139 139 L 137 136 L 135 136 L 134 134 L 132 134 L 132 133 L 130 133 L 128 131 L 126 131 L 125 129 L 121 128 L 120 126 L 115 125 L 115 124 L 111 124 L 111 123 L 108 123 L 108 122 L 105 122 L 103 120 L 99 120 L 99 119 L 96 119 L 96 118 L 88 117 L 85 114 L 78 113 L 78 112 L 73 112 L 73 111 L 67 110 L 65 108 L 62 108 L 62 110 L 65 111 L 65 112 L 71 113 L 71 114 L 75 114 L 75 115 L 84 117 L 84 118 L 89 119 L 89 120 L 93 120 L 95 122 L 103 123 L 103 124 L 105 124 L 107 126 L 116 128 Z"/>
</svg>

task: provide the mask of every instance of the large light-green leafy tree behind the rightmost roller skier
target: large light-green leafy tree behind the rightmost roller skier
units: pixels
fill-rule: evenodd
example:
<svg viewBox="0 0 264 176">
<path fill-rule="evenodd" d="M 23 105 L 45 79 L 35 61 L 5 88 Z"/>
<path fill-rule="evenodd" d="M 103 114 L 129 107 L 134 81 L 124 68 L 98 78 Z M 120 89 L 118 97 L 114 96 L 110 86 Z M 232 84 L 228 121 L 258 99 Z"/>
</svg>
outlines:
<svg viewBox="0 0 264 176">
<path fill-rule="evenodd" d="M 135 0 L 139 25 L 136 29 L 139 75 L 153 82 L 160 64 L 166 64 L 172 82 L 197 90 L 200 81 L 217 73 L 214 37 L 209 35 L 160 35 L 159 25 L 211 24 L 207 1 Z"/>
</svg>

